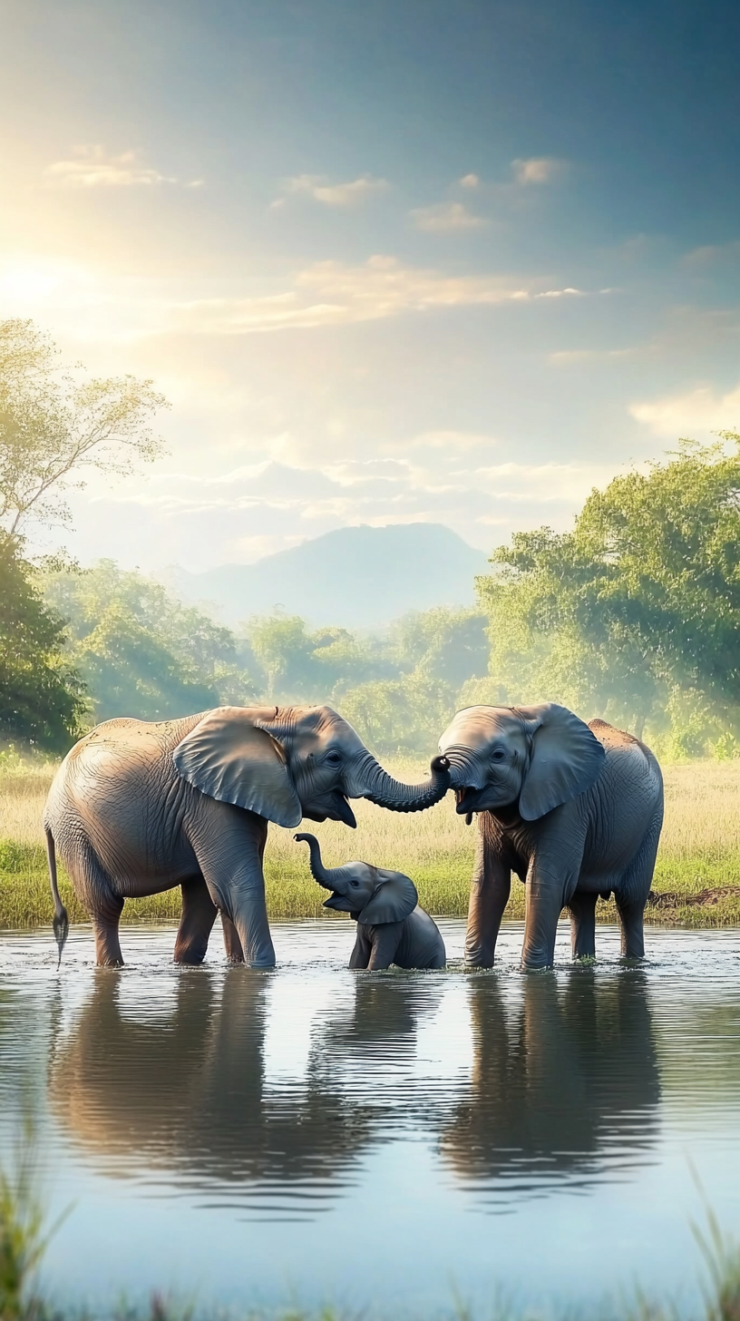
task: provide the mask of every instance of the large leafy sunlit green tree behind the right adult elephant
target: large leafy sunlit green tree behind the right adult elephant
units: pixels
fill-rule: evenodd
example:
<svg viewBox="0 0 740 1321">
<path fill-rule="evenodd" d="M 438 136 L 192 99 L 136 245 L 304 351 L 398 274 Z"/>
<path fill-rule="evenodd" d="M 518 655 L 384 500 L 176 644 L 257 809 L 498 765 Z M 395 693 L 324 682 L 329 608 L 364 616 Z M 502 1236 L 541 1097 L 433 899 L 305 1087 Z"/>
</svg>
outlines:
<svg viewBox="0 0 740 1321">
<path fill-rule="evenodd" d="M 728 453 L 728 446 L 731 452 Z M 490 675 L 699 752 L 740 729 L 740 436 L 592 491 L 574 532 L 519 532 L 478 580 Z"/>
</svg>

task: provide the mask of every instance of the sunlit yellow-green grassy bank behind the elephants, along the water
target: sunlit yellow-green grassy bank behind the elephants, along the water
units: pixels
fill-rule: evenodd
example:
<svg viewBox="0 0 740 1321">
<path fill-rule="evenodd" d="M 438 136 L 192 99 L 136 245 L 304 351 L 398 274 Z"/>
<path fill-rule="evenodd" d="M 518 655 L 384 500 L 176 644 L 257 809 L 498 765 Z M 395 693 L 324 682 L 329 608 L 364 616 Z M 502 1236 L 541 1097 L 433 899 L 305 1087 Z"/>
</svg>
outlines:
<svg viewBox="0 0 740 1321">
<path fill-rule="evenodd" d="M 418 779 L 423 768 L 398 762 L 403 779 Z M 53 766 L 0 769 L 0 927 L 28 927 L 52 921 L 41 815 Z M 687 926 L 740 925 L 740 761 L 667 766 L 666 820 L 654 889 L 670 906 L 651 906 L 649 922 Z M 395 815 L 371 803 L 353 804 L 357 831 L 336 822 L 312 826 L 329 865 L 365 857 L 407 872 L 431 913 L 462 917 L 473 865 L 476 827 L 455 814 L 452 795 L 427 812 Z M 292 831 L 270 828 L 266 853 L 267 902 L 274 918 L 316 917 L 324 894 L 312 881 L 307 848 Z M 86 921 L 67 877 L 61 892 L 73 922 Z M 710 893 L 725 889 L 725 893 Z M 513 882 L 510 917 L 523 917 L 525 888 Z M 180 914 L 180 892 L 126 905 L 126 919 L 172 918 Z M 599 902 L 600 921 L 614 921 L 612 902 Z"/>
</svg>

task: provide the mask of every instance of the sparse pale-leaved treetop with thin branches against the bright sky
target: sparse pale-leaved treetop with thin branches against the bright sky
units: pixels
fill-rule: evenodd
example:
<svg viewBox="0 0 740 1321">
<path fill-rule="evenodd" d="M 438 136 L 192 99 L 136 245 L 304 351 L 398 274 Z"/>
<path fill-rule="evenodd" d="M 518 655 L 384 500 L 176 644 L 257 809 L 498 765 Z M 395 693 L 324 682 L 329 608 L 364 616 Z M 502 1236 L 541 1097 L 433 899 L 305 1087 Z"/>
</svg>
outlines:
<svg viewBox="0 0 740 1321">
<path fill-rule="evenodd" d="M 0 321 L 0 526 L 67 524 L 85 469 L 124 476 L 163 452 L 147 419 L 166 400 L 135 376 L 78 382 L 32 321 Z"/>
</svg>

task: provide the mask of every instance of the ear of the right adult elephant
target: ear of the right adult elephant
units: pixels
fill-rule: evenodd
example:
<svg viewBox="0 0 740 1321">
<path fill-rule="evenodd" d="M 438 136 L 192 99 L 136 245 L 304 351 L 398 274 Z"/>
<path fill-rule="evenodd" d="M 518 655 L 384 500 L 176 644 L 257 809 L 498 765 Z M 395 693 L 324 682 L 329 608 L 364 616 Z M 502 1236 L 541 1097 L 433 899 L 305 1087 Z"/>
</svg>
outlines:
<svg viewBox="0 0 740 1321">
<path fill-rule="evenodd" d="M 591 789 L 601 771 L 604 748 L 567 707 L 543 701 L 515 711 L 533 740 L 519 815 L 534 822 Z"/>
</svg>

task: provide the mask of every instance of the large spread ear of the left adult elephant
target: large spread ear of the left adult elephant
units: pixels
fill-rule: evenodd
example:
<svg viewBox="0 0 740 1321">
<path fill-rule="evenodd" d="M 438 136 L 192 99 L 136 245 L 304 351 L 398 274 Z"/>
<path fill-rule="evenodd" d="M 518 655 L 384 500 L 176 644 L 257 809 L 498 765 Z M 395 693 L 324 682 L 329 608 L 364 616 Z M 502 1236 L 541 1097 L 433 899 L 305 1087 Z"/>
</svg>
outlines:
<svg viewBox="0 0 740 1321">
<path fill-rule="evenodd" d="M 276 826 L 297 826 L 303 808 L 285 753 L 248 707 L 217 707 L 185 734 L 174 765 L 209 798 L 244 807 Z"/>
</svg>

